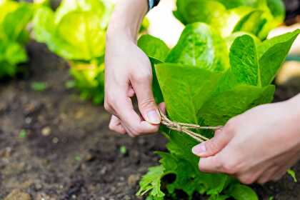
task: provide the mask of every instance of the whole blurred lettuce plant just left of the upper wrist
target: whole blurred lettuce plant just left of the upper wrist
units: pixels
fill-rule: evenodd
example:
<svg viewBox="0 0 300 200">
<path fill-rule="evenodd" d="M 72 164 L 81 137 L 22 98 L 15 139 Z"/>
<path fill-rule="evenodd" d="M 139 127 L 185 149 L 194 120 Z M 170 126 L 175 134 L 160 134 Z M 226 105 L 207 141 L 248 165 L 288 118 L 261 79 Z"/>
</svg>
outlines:
<svg viewBox="0 0 300 200">
<path fill-rule="evenodd" d="M 56 11 L 41 6 L 34 16 L 34 38 L 69 61 L 84 99 L 104 98 L 104 48 L 112 10 L 109 0 L 64 0 Z"/>
</svg>

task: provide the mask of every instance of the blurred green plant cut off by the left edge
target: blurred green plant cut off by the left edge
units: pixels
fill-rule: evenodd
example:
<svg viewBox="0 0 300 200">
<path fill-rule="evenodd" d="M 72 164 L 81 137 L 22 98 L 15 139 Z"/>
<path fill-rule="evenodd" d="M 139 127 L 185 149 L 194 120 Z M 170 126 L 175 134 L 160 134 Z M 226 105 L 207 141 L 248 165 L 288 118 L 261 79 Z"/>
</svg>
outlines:
<svg viewBox="0 0 300 200">
<path fill-rule="evenodd" d="M 0 1 L 0 79 L 14 76 L 18 64 L 28 59 L 24 46 L 29 40 L 26 26 L 32 13 L 33 7 L 27 3 Z"/>
</svg>

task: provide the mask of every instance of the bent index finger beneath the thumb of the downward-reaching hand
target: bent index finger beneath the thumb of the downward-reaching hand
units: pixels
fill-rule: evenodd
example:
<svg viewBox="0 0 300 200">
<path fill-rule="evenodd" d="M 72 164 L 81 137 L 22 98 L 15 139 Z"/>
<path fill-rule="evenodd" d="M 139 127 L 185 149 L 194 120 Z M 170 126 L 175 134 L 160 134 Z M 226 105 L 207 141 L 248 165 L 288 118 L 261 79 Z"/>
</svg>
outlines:
<svg viewBox="0 0 300 200">
<path fill-rule="evenodd" d="M 159 125 L 149 124 L 147 121 L 141 119 L 136 111 L 134 111 L 131 98 L 128 96 L 116 100 L 114 110 L 118 114 L 121 124 L 126 126 L 126 129 L 128 129 L 128 132 L 132 136 L 152 134 L 159 130 Z"/>
</svg>

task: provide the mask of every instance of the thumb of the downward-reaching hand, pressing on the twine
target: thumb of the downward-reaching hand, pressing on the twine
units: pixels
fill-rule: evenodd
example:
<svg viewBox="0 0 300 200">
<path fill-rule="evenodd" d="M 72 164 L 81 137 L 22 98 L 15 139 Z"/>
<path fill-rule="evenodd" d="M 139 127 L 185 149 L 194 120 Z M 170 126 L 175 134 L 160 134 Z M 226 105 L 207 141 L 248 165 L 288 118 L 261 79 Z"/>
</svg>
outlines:
<svg viewBox="0 0 300 200">
<path fill-rule="evenodd" d="M 161 116 L 154 100 L 151 76 L 137 77 L 131 81 L 131 84 L 136 93 L 141 115 L 150 124 L 160 124 Z"/>
</svg>

